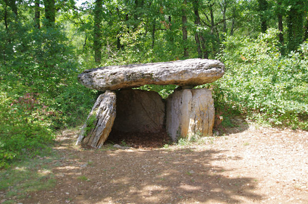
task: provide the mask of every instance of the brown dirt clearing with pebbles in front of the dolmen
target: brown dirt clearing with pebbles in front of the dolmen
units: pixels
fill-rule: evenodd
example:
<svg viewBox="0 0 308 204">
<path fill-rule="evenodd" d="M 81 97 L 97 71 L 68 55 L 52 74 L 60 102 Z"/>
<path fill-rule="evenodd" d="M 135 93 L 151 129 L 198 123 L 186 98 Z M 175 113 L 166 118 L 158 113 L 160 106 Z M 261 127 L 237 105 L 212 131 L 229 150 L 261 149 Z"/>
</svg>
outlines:
<svg viewBox="0 0 308 204">
<path fill-rule="evenodd" d="M 308 203 L 308 133 L 240 125 L 203 144 L 81 149 L 76 131 L 55 147 L 54 189 L 21 203 Z"/>
</svg>

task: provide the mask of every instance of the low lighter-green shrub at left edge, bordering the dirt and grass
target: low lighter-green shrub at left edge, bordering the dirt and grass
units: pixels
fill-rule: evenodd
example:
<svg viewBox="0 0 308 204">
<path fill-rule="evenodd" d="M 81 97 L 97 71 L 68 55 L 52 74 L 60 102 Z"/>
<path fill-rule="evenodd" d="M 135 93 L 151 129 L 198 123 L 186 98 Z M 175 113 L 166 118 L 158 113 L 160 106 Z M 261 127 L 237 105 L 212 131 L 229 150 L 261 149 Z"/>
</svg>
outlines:
<svg viewBox="0 0 308 204">
<path fill-rule="evenodd" d="M 53 140 L 43 105 L 33 94 L 18 99 L 0 93 L 0 168 L 24 155 L 36 155 Z"/>
</svg>

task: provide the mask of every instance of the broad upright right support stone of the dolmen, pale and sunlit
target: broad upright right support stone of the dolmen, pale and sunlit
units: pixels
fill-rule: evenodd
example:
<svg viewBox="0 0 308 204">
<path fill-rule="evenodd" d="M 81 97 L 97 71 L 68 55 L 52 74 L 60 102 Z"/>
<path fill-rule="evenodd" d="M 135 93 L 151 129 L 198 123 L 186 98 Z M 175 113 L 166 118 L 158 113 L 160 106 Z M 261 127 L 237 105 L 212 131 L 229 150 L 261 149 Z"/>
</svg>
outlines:
<svg viewBox="0 0 308 204">
<path fill-rule="evenodd" d="M 176 90 L 167 98 L 166 130 L 172 140 L 194 134 L 212 135 L 215 108 L 210 90 Z"/>
</svg>

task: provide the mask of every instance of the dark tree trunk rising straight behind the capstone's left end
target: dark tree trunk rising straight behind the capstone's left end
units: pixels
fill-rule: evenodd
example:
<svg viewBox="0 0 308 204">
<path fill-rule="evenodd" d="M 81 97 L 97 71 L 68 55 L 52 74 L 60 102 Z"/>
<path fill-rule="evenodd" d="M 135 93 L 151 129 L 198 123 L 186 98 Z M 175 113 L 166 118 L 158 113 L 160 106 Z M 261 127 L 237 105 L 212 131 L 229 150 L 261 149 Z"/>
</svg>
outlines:
<svg viewBox="0 0 308 204">
<path fill-rule="evenodd" d="M 103 0 L 96 0 L 94 7 L 94 60 L 97 63 L 101 63 L 102 59 L 102 32 L 101 32 L 101 22 L 102 22 L 102 9 L 103 9 Z"/>
</svg>

